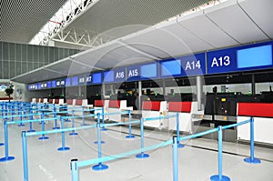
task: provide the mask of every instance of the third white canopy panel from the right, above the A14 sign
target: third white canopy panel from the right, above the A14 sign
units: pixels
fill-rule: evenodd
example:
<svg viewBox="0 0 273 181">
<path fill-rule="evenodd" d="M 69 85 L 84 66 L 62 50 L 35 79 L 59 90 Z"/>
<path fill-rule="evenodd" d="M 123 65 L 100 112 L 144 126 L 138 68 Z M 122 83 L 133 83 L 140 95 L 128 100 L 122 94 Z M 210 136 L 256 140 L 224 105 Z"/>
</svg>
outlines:
<svg viewBox="0 0 273 181">
<path fill-rule="evenodd" d="M 234 39 L 211 22 L 206 15 L 200 14 L 196 17 L 182 20 L 179 24 L 214 48 L 238 45 Z"/>
</svg>

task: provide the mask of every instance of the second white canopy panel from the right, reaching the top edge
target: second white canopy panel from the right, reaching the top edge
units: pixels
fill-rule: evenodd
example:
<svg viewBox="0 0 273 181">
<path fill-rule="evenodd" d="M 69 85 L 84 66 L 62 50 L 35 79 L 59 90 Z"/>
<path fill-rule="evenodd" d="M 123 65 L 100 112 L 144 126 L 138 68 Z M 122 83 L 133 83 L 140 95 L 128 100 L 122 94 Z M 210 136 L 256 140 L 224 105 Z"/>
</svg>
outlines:
<svg viewBox="0 0 273 181">
<path fill-rule="evenodd" d="M 205 15 L 240 44 L 268 38 L 236 2 L 234 5 L 218 5 L 217 8 L 216 11 L 214 11 L 215 8 L 205 10 Z"/>
</svg>

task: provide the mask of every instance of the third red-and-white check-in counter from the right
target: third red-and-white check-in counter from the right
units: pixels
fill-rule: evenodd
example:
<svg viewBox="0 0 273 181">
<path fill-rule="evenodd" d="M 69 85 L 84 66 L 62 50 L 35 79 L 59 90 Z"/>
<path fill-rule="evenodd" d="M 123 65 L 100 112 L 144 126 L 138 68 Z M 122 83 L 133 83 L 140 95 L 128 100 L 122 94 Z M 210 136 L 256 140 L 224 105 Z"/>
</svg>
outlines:
<svg viewBox="0 0 273 181">
<path fill-rule="evenodd" d="M 143 101 L 142 102 L 142 117 L 157 117 L 166 116 L 167 101 Z M 155 128 L 167 128 L 167 119 L 158 119 L 144 122 L 144 126 Z"/>
</svg>

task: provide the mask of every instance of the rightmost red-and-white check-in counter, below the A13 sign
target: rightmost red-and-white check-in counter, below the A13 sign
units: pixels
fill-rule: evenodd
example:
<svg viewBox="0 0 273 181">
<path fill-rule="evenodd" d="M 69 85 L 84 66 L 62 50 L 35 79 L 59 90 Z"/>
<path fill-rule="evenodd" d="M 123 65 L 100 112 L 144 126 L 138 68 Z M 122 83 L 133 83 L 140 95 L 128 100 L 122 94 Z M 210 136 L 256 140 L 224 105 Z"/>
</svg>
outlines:
<svg viewBox="0 0 273 181">
<path fill-rule="evenodd" d="M 254 117 L 255 142 L 273 144 L 273 104 L 238 103 L 238 123 Z M 238 140 L 250 140 L 249 124 L 238 126 Z"/>
</svg>

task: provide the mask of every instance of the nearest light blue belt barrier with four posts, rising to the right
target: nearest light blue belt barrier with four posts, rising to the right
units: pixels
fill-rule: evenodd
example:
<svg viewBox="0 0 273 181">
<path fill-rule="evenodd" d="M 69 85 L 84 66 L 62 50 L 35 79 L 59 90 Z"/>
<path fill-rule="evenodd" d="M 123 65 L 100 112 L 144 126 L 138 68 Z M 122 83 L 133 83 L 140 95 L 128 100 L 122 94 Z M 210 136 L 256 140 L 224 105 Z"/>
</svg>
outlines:
<svg viewBox="0 0 273 181">
<path fill-rule="evenodd" d="M 154 120 L 156 118 L 164 118 L 164 116 L 160 116 L 160 117 L 155 117 L 155 118 L 147 118 L 147 120 Z M 143 125 L 144 119 L 141 119 L 141 124 Z M 163 146 L 169 146 L 169 145 L 173 145 L 173 180 L 174 181 L 178 181 L 178 143 L 179 141 L 183 141 L 183 140 L 188 140 L 188 139 L 192 139 L 192 138 L 196 138 L 199 136 L 206 136 L 208 134 L 212 134 L 215 132 L 218 132 L 218 174 L 214 175 L 214 176 L 210 176 L 210 180 L 212 181 L 216 181 L 216 180 L 222 180 L 222 181 L 228 181 L 230 180 L 230 178 L 228 176 L 223 176 L 222 175 L 222 130 L 230 128 L 230 127 L 236 127 L 236 126 L 242 126 L 245 124 L 250 123 L 250 157 L 245 158 L 244 161 L 250 164 L 259 164 L 260 160 L 256 157 L 254 157 L 254 119 L 253 117 L 251 117 L 249 120 L 240 122 L 238 124 L 233 124 L 233 125 L 228 125 L 228 126 L 218 126 L 217 128 L 211 129 L 211 130 L 207 130 L 201 133 L 197 133 L 191 136 L 174 136 L 173 139 L 167 140 L 163 143 L 157 144 L 157 145 L 153 145 L 153 146 L 146 146 L 143 147 L 141 146 L 140 149 L 136 149 L 136 150 L 132 150 L 129 152 L 125 152 L 122 154 L 118 154 L 115 156 L 105 156 L 105 157 L 101 157 L 99 156 L 96 159 L 91 159 L 91 160 L 86 160 L 86 161 L 78 161 L 77 159 L 71 159 L 70 162 L 70 168 L 71 168 L 71 173 L 72 173 L 72 181 L 78 181 L 79 180 L 79 168 L 83 167 L 83 166 L 92 166 L 92 165 L 96 165 L 96 167 L 100 167 L 101 169 L 97 169 L 97 170 L 103 170 L 106 169 L 108 166 L 106 165 L 102 165 L 102 162 L 108 162 L 111 160 L 116 160 L 119 158 L 123 158 L 126 156 L 134 156 L 137 153 L 141 153 L 138 154 L 136 156 L 140 156 L 140 157 L 146 157 L 144 154 L 147 151 L 150 150 L 155 150 L 159 147 L 163 147 Z M 95 166 L 93 166 L 94 169 Z"/>
</svg>

